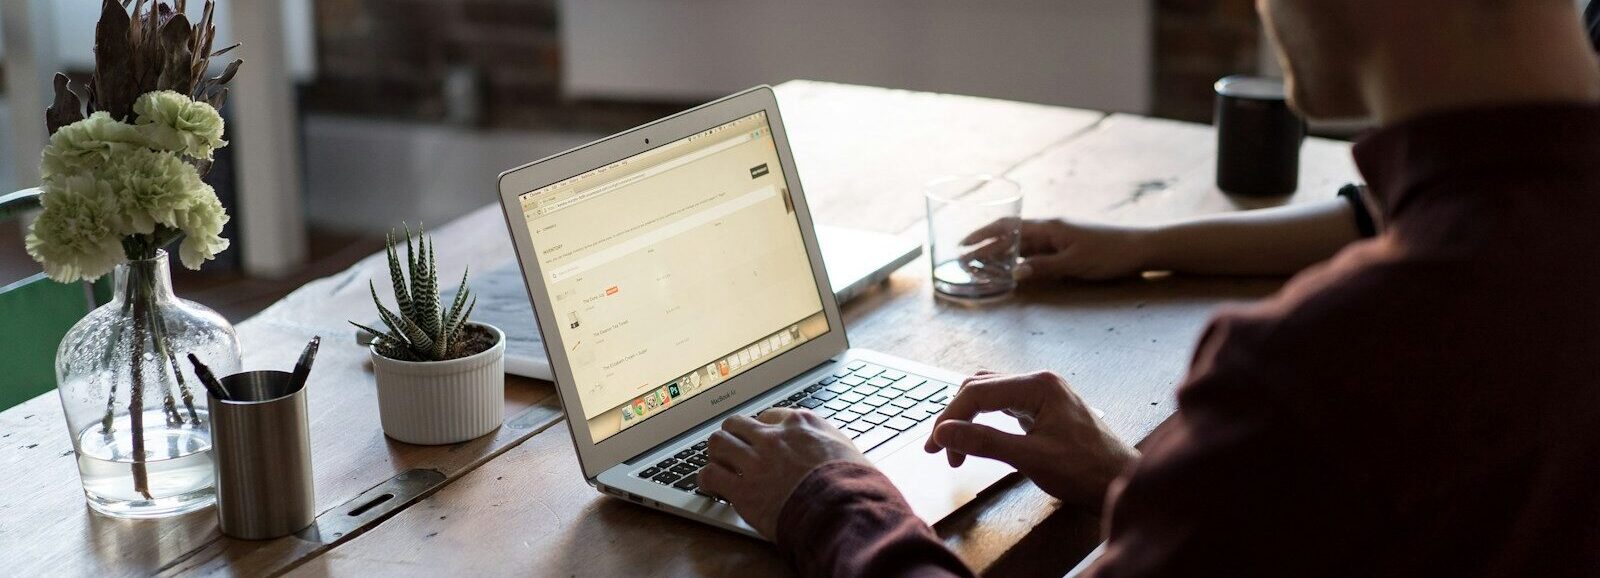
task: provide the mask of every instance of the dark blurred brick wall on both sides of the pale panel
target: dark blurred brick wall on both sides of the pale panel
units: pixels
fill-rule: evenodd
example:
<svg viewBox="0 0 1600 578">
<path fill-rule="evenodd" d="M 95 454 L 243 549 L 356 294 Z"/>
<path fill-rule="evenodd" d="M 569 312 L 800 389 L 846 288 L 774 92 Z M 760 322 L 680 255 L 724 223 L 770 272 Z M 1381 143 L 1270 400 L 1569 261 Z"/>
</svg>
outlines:
<svg viewBox="0 0 1600 578">
<path fill-rule="evenodd" d="M 445 120 L 451 75 L 496 126 L 606 131 L 693 104 L 563 101 L 555 0 L 317 0 L 315 18 L 307 110 Z M 1251 0 L 1158 0 L 1155 29 L 1157 115 L 1208 122 L 1211 83 L 1256 70 Z"/>
</svg>

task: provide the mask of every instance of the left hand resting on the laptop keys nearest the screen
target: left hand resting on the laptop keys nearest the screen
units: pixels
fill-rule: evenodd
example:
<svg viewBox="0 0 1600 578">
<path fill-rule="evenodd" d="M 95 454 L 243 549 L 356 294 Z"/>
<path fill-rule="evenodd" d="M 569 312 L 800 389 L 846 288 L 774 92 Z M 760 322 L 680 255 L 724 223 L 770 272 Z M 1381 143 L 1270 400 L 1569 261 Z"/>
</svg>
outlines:
<svg viewBox="0 0 1600 578">
<path fill-rule="evenodd" d="M 816 466 L 832 461 L 869 464 L 851 439 L 813 411 L 773 408 L 758 419 L 733 416 L 710 434 L 710 463 L 701 488 L 726 498 L 763 536 L 774 538 L 778 514 Z"/>
</svg>

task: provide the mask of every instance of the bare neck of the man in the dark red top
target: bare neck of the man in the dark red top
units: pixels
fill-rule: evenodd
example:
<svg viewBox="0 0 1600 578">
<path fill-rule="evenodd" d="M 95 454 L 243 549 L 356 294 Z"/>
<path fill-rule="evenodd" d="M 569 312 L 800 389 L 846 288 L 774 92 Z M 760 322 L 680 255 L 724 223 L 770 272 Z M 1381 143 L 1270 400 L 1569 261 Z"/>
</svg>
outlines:
<svg viewBox="0 0 1600 578">
<path fill-rule="evenodd" d="M 1381 125 L 1432 112 L 1536 102 L 1600 102 L 1600 59 L 1571 6 L 1493 19 L 1446 16 L 1474 29 L 1470 42 L 1410 45 L 1379 53 L 1365 74 L 1368 109 Z"/>
</svg>

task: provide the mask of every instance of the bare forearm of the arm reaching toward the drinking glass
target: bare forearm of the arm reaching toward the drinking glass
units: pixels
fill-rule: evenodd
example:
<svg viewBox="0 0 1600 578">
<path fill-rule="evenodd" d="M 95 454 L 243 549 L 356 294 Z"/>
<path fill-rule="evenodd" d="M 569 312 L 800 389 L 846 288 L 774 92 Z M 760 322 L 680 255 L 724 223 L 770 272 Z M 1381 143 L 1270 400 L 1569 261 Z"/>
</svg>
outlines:
<svg viewBox="0 0 1600 578">
<path fill-rule="evenodd" d="M 1344 199 L 1213 215 L 1144 234 L 1149 271 L 1288 275 L 1360 239 Z"/>
</svg>

